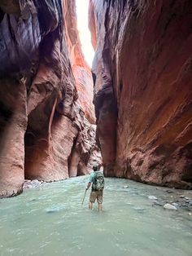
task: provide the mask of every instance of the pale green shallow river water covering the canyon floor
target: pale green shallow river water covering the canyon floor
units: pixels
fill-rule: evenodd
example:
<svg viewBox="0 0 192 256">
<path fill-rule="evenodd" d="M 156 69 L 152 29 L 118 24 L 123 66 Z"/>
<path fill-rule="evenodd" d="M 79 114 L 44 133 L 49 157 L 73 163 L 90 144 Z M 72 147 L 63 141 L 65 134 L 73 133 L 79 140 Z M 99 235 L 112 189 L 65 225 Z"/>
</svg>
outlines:
<svg viewBox="0 0 192 256">
<path fill-rule="evenodd" d="M 154 205 L 191 192 L 106 179 L 103 212 L 88 210 L 88 176 L 30 188 L 0 201 L 1 256 L 190 256 L 189 210 Z M 126 186 L 129 186 L 127 188 Z"/>
</svg>

